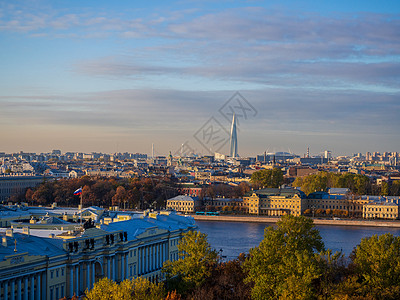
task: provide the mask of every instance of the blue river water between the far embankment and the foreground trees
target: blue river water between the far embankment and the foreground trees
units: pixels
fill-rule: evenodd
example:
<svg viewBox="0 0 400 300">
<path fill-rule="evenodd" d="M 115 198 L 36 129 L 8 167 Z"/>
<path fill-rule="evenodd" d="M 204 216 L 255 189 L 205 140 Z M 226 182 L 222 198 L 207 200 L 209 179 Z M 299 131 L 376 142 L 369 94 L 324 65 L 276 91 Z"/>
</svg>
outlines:
<svg viewBox="0 0 400 300">
<path fill-rule="evenodd" d="M 227 260 L 238 257 L 240 253 L 248 253 L 250 248 L 258 246 L 264 236 L 264 228 L 272 226 L 267 223 L 246 222 L 212 222 L 196 221 L 199 230 L 208 235 L 208 242 L 217 251 L 222 249 L 222 255 Z M 400 236 L 400 228 L 381 228 L 364 226 L 328 226 L 316 225 L 325 248 L 343 251 L 348 256 L 361 239 L 374 234 L 392 233 Z"/>
</svg>

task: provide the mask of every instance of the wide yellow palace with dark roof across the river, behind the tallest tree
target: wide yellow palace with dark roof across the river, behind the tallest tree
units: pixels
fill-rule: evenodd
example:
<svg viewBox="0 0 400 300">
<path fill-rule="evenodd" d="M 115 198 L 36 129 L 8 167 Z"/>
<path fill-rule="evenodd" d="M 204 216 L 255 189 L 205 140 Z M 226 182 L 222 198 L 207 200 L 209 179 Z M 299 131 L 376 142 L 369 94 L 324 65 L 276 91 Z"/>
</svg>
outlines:
<svg viewBox="0 0 400 300">
<path fill-rule="evenodd" d="M 307 197 L 297 189 L 267 188 L 249 192 L 243 197 L 243 204 L 247 212 L 253 215 L 300 216 L 307 208 Z"/>
</svg>

